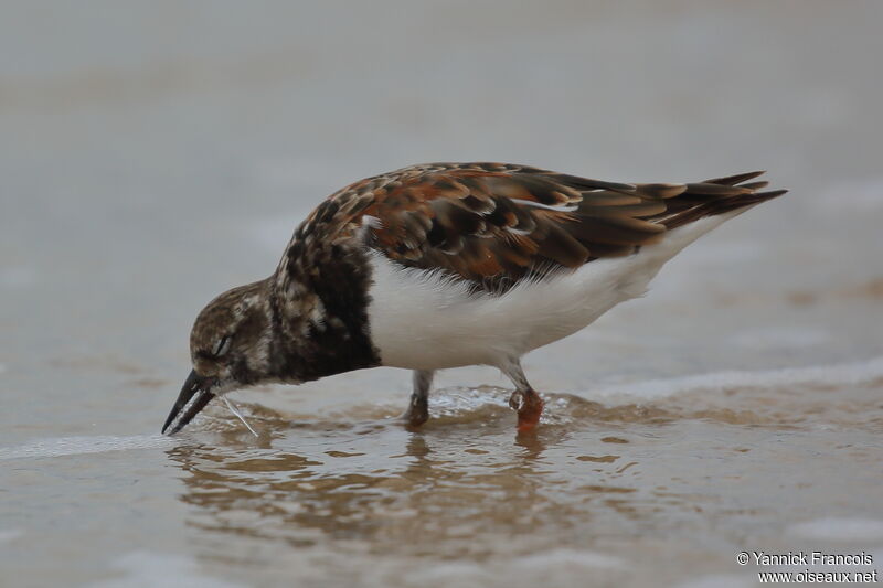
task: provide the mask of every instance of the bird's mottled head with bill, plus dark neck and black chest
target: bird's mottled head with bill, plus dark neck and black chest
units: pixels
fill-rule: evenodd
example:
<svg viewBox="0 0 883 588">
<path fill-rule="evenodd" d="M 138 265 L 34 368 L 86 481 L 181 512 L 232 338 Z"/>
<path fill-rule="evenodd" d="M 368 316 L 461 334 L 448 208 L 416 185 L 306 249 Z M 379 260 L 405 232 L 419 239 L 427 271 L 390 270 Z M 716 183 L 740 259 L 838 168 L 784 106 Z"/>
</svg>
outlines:
<svg viewBox="0 0 883 588">
<path fill-rule="evenodd" d="M 199 313 L 190 333 L 193 370 L 163 432 L 179 431 L 234 389 L 379 365 L 368 333 L 365 254 L 354 242 L 315 236 L 333 231 L 332 220 L 307 218 L 273 276 L 227 290 Z"/>
</svg>

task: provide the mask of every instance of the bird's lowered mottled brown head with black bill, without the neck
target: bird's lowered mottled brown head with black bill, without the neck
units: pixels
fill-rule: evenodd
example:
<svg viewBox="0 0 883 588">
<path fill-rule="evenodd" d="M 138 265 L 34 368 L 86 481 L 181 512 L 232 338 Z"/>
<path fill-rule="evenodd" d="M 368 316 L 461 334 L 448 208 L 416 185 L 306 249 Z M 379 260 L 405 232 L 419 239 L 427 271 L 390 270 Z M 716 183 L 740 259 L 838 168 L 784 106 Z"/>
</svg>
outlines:
<svg viewBox="0 0 883 588">
<path fill-rule="evenodd" d="M 190 333 L 193 370 L 162 432 L 179 415 L 171 434 L 181 430 L 217 395 L 273 379 L 270 316 L 267 280 L 233 288 L 202 309 Z"/>
</svg>

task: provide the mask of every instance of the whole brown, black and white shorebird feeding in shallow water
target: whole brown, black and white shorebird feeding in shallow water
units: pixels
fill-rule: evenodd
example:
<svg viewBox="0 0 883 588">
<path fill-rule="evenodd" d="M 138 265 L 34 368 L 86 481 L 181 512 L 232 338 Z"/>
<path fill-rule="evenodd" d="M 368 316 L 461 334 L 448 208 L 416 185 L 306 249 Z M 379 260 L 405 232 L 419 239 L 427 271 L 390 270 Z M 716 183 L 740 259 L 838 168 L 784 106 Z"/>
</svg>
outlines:
<svg viewBox="0 0 883 588">
<path fill-rule="evenodd" d="M 402 418 L 419 427 L 434 374 L 467 365 L 499 368 L 518 431 L 533 431 L 544 403 L 521 357 L 643 296 L 685 246 L 787 192 L 763 191 L 763 173 L 620 183 L 470 162 L 352 183 L 297 226 L 268 278 L 199 313 L 162 432 L 235 389 L 376 366 L 413 372 Z"/>
</svg>

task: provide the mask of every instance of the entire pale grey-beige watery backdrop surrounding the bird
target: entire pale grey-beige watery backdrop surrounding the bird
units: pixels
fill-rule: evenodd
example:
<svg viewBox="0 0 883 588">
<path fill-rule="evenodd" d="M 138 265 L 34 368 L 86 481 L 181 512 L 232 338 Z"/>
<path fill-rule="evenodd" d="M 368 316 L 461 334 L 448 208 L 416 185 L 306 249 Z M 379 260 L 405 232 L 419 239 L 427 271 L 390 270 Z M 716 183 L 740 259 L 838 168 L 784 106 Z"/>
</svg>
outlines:
<svg viewBox="0 0 883 588">
<path fill-rule="evenodd" d="M 875 0 L 2 2 L 0 578 L 140 586 L 164 570 L 188 586 L 512 586 L 541 570 L 558 585 L 587 574 L 738 585 L 753 581 L 731 569 L 746 542 L 883 545 L 881 23 Z M 362 435 L 405 406 L 409 376 L 392 370 L 238 395 L 277 430 L 258 445 L 220 410 L 183 440 L 155 435 L 190 368 L 196 312 L 269 275 L 317 202 L 411 163 L 470 160 L 611 181 L 767 169 L 791 193 L 684 252 L 647 299 L 528 357 L 534 384 L 562 395 L 542 447 L 512 445 L 506 393 L 458 387 L 508 385 L 483 368 L 443 376 L 448 429 L 424 437 Z M 604 411 L 623 403 L 645 413 Z M 350 428 L 281 425 L 292 419 Z M 628 459 L 592 448 L 610 427 L 662 445 L 621 446 L 636 478 L 619 480 L 619 503 L 606 502 L 614 491 L 592 502 Z M 762 453 L 769 436 L 796 453 Z M 461 493 L 490 483 L 479 480 L 490 461 L 436 462 L 438 503 L 413 502 L 408 483 L 426 470 L 389 473 L 432 468 L 432 451 L 456 462 L 464 439 L 485 443 L 494 471 L 534 475 L 517 513 L 488 505 L 524 495 L 519 473 L 482 498 Z M 733 448 L 757 451 L 735 463 Z M 579 459 L 593 451 L 606 457 Z M 334 452 L 368 462 L 336 464 Z M 675 475 L 663 456 L 696 459 L 678 460 Z M 275 477 L 232 466 L 248 460 Z M 594 481 L 550 498 L 587 462 L 600 468 L 586 470 Z M 724 481 L 757 468 L 789 481 Z M 296 469 L 313 490 L 332 480 L 351 493 L 323 502 L 273 485 Z M 183 484 L 194 471 L 214 482 Z M 462 488 L 445 494 L 451 479 Z M 212 493 L 235 499 L 194 498 Z M 291 512 L 272 514 L 286 500 Z M 545 514 L 525 535 L 512 521 L 536 504 Z M 360 526 L 341 509 L 375 514 Z M 469 521 L 490 535 L 479 541 Z M 700 546 L 696 579 L 685 568 Z M 512 567 L 512 554 L 536 559 Z"/>
</svg>

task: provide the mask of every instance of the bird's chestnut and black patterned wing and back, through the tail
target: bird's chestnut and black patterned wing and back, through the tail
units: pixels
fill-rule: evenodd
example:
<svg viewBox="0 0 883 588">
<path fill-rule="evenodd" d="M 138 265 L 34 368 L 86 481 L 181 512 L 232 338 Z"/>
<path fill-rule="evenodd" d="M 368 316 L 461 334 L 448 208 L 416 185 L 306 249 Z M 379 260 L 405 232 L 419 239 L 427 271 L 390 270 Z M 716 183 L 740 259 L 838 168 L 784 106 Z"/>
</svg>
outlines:
<svg viewBox="0 0 883 588">
<path fill-rule="evenodd" d="M 759 173 L 625 184 L 525 165 L 432 163 L 349 185 L 302 227 L 359 224 L 369 246 L 393 261 L 499 291 L 525 276 L 628 255 L 673 226 L 724 212 L 727 203 L 737 207 L 735 200 L 759 196 L 755 191 L 766 184 L 734 184 Z"/>
</svg>

